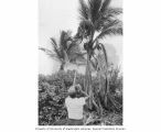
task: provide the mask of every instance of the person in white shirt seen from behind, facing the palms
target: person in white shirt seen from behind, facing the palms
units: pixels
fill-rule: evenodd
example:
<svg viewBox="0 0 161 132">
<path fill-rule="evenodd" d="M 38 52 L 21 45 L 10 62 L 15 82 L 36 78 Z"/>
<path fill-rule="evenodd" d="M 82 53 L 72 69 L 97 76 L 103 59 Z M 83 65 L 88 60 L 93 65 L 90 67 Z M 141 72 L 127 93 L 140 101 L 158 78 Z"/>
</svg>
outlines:
<svg viewBox="0 0 161 132">
<path fill-rule="evenodd" d="M 83 111 L 87 99 L 88 95 L 82 90 L 79 85 L 72 86 L 68 89 L 68 97 L 65 99 L 68 125 L 83 125 Z"/>
</svg>

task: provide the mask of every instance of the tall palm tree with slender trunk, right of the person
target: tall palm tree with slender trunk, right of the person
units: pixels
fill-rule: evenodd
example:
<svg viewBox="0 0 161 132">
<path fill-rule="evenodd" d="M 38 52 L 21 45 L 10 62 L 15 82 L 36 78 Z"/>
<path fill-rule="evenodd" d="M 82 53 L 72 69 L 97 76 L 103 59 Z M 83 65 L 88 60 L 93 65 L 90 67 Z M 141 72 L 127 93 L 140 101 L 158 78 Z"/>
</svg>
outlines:
<svg viewBox="0 0 161 132">
<path fill-rule="evenodd" d="M 105 52 L 105 46 L 99 42 L 106 35 L 122 34 L 122 23 L 117 18 L 122 12 L 120 8 L 110 7 L 111 0 L 79 0 L 80 22 L 75 38 L 84 42 L 87 52 L 86 91 L 93 97 L 90 61 L 95 50 Z M 86 41 L 86 42 L 85 42 Z M 92 108 L 89 100 L 89 107 Z"/>
</svg>

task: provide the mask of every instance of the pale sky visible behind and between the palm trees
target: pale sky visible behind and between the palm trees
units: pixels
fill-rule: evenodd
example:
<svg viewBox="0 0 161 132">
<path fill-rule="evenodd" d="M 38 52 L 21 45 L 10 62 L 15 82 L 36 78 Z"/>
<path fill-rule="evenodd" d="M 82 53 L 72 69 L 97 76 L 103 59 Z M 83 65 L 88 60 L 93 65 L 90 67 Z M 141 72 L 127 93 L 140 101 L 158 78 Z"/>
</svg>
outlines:
<svg viewBox="0 0 161 132">
<path fill-rule="evenodd" d="M 112 7 L 122 8 L 122 0 L 112 0 Z M 79 23 L 78 0 L 40 0 L 39 1 L 39 46 L 51 50 L 50 37 L 60 36 L 62 30 L 76 33 Z M 108 59 L 115 65 L 122 63 L 122 36 L 108 36 L 104 40 Z M 39 73 L 51 75 L 57 72 L 60 64 L 39 51 Z M 71 65 L 67 68 L 72 69 Z M 85 68 L 78 70 L 84 73 Z"/>
</svg>

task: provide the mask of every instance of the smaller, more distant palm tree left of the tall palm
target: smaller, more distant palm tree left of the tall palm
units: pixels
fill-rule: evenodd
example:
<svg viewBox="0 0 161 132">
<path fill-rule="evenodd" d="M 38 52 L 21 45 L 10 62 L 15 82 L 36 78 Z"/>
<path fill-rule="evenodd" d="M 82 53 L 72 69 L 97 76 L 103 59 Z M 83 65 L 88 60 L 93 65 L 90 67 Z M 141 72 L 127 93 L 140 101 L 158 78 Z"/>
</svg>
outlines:
<svg viewBox="0 0 161 132">
<path fill-rule="evenodd" d="M 60 62 L 60 70 L 64 70 L 65 65 L 77 61 L 84 61 L 84 54 L 80 53 L 78 44 L 76 44 L 72 36 L 71 31 L 62 31 L 58 43 L 54 37 L 51 37 L 52 51 L 40 47 L 41 51 L 45 52 L 51 58 Z"/>
</svg>

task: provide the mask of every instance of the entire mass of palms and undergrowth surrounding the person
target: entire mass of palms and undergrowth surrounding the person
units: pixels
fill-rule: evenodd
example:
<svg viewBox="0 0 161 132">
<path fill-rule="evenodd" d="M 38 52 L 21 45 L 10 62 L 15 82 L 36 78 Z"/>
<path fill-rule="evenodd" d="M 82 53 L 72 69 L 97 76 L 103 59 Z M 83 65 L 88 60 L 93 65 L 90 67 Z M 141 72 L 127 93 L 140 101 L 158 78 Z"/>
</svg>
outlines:
<svg viewBox="0 0 161 132">
<path fill-rule="evenodd" d="M 73 84 L 80 84 L 89 95 L 89 109 L 84 113 L 85 125 L 122 124 L 122 73 L 108 62 L 100 41 L 107 35 L 121 35 L 122 23 L 117 18 L 122 11 L 110 7 L 111 0 L 79 0 L 79 26 L 77 33 L 62 31 L 58 43 L 51 38 L 53 51 L 40 47 L 60 62 L 57 73 L 39 75 L 39 124 L 65 124 L 66 91 Z M 84 45 L 80 51 L 79 45 Z M 67 64 L 86 66 L 85 75 L 64 70 Z M 95 73 L 96 76 L 92 76 Z"/>
</svg>

